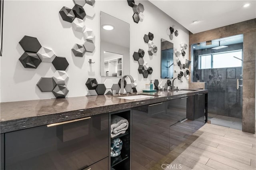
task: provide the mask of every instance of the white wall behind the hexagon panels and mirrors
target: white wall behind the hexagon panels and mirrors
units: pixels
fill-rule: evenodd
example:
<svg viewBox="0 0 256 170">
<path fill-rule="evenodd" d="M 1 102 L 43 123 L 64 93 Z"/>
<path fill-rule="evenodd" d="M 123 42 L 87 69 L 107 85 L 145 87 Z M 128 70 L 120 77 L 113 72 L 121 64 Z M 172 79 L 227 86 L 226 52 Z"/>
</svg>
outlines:
<svg viewBox="0 0 256 170">
<path fill-rule="evenodd" d="M 67 87 L 70 90 L 67 97 L 86 95 L 86 80 L 95 77 L 98 83 L 103 83 L 105 77 L 100 76 L 100 11 L 106 12 L 116 18 L 130 23 L 130 75 L 138 82 L 138 91 L 144 89 L 145 83 L 150 79 L 160 79 L 160 42 L 161 38 L 174 43 L 174 48 L 180 47 L 180 43 L 188 44 L 188 30 L 178 24 L 172 18 L 160 11 L 148 1 L 136 1 L 136 4 L 144 5 L 144 21 L 136 24 L 133 19 L 133 10 L 126 0 L 122 1 L 100 1 L 96 0 L 94 9 L 96 16 L 93 20 L 86 18 L 86 26 L 91 28 L 96 35 L 94 53 L 86 53 L 84 57 L 74 57 L 71 48 L 74 43 L 83 43 L 81 33 L 75 32 L 68 22 L 64 22 L 59 15 L 62 6 L 73 8 L 72 0 L 64 1 L 5 1 L 4 2 L 4 30 L 3 30 L 3 57 L 1 57 L 1 102 L 20 101 L 32 99 L 54 98 L 51 92 L 42 93 L 36 83 L 40 77 L 52 77 L 55 69 L 51 63 L 41 63 L 37 69 L 26 69 L 22 66 L 19 57 L 24 52 L 19 41 L 24 35 L 38 38 L 42 46 L 52 47 L 57 56 L 66 57 L 69 67 L 66 70 L 70 79 Z M 184 16 L 185 17 L 185 16 Z M 166 29 L 172 25 L 176 26 L 179 36 L 170 40 Z M 152 32 L 154 43 L 158 52 L 153 56 L 147 53 L 148 45 L 144 43 L 143 36 Z M 144 60 L 153 68 L 152 75 L 143 78 L 138 73 L 138 62 L 134 61 L 132 54 L 139 48 L 145 50 Z M 89 64 L 88 60 L 95 61 Z M 188 49 L 182 63 L 188 59 Z M 178 72 L 178 66 L 175 68 Z M 177 73 L 174 73 L 177 77 Z M 112 78 L 114 83 L 118 78 Z M 166 82 L 166 80 L 164 80 Z M 188 81 L 183 83 L 176 81 L 176 86 L 188 87 Z"/>
</svg>

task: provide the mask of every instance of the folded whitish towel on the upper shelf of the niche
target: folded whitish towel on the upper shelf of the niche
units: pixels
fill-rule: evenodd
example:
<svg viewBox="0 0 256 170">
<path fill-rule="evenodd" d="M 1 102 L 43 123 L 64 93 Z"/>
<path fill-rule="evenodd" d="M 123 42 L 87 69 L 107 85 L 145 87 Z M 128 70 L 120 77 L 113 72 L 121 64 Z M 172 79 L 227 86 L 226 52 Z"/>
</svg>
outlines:
<svg viewBox="0 0 256 170">
<path fill-rule="evenodd" d="M 126 129 L 128 129 L 129 123 L 123 117 L 112 115 L 111 117 L 111 138 L 124 134 Z"/>
</svg>

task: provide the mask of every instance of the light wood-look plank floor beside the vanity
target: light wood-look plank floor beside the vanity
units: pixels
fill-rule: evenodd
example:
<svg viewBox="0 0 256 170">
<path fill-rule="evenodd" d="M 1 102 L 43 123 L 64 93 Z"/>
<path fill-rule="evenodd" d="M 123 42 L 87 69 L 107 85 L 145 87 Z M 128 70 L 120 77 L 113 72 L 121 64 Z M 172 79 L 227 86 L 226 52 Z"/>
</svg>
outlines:
<svg viewBox="0 0 256 170">
<path fill-rule="evenodd" d="M 150 169 L 161 170 L 162 164 L 184 170 L 255 170 L 256 136 L 207 123 Z"/>
</svg>

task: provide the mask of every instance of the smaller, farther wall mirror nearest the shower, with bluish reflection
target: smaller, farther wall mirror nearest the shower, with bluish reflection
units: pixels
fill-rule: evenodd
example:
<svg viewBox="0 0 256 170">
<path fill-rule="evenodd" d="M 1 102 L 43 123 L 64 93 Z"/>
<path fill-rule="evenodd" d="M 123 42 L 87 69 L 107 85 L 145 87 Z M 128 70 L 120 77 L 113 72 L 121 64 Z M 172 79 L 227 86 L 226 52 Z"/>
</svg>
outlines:
<svg viewBox="0 0 256 170">
<path fill-rule="evenodd" d="M 161 78 L 173 78 L 173 43 L 161 39 Z"/>
</svg>

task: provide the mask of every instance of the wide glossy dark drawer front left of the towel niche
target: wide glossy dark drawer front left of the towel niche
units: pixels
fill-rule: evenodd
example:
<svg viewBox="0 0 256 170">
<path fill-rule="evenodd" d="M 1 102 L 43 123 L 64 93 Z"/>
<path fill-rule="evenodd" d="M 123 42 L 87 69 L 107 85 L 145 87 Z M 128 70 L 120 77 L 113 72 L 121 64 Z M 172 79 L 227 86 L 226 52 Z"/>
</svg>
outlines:
<svg viewBox="0 0 256 170">
<path fill-rule="evenodd" d="M 108 156 L 108 114 L 5 134 L 6 170 L 78 170 Z"/>
</svg>

